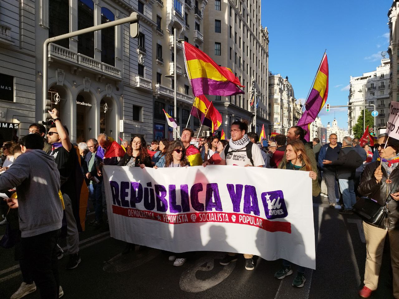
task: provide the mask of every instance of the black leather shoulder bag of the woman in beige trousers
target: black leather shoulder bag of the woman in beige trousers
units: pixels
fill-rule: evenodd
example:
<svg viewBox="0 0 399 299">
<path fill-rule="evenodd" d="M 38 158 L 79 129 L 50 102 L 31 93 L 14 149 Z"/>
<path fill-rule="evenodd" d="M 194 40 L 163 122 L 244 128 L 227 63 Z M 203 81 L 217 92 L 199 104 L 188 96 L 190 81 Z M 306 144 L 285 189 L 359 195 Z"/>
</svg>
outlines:
<svg viewBox="0 0 399 299">
<path fill-rule="evenodd" d="M 381 221 L 388 214 L 388 203 L 391 201 L 391 194 L 395 192 L 397 186 L 399 185 L 399 178 L 396 180 L 395 185 L 389 191 L 389 195 L 385 201 L 385 205 L 381 206 L 379 203 L 369 199 L 368 197 L 361 197 L 356 201 L 353 206 L 353 211 L 360 216 L 365 222 L 371 225 L 379 226 Z M 389 186 L 388 186 L 389 187 Z"/>
</svg>

